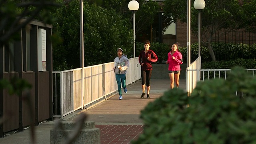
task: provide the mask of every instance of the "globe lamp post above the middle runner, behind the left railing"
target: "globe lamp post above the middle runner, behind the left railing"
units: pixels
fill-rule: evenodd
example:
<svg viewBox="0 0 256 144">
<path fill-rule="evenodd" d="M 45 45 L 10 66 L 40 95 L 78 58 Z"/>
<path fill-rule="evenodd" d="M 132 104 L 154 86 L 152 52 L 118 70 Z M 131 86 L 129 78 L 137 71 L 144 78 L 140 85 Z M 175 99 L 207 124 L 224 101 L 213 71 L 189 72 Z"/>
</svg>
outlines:
<svg viewBox="0 0 256 144">
<path fill-rule="evenodd" d="M 132 0 L 128 4 L 128 8 L 130 11 L 133 12 L 133 37 L 134 37 L 134 42 L 133 42 L 133 57 L 135 58 L 135 11 L 138 10 L 140 7 L 140 4 L 136 0 Z"/>
</svg>

